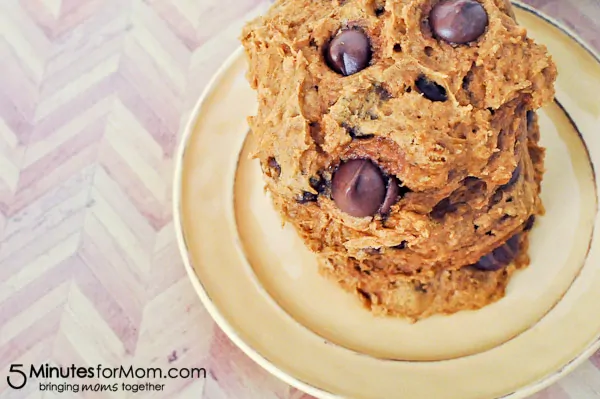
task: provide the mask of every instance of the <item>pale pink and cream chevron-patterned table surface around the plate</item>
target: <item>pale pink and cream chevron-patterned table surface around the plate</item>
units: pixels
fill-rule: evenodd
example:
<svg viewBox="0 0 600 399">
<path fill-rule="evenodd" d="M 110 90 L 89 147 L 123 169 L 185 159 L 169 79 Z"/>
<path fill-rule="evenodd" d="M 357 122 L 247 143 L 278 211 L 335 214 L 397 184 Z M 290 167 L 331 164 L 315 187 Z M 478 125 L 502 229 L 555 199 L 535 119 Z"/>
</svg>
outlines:
<svg viewBox="0 0 600 399">
<path fill-rule="evenodd" d="M 600 51 L 600 1 L 527 2 Z M 8 389 L 14 363 L 204 367 L 152 397 L 309 398 L 215 326 L 171 214 L 185 121 L 266 5 L 0 0 L 0 398 L 55 396 Z M 535 398 L 600 398 L 599 367 L 597 354 Z"/>
</svg>

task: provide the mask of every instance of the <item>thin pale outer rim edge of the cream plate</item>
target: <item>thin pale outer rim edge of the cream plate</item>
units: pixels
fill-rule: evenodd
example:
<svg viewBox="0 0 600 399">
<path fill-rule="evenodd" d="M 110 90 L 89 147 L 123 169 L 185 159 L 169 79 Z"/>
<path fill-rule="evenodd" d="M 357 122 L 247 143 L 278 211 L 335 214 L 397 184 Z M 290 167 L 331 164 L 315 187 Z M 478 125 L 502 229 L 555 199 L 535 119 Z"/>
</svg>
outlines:
<svg viewBox="0 0 600 399">
<path fill-rule="evenodd" d="M 562 22 L 557 19 L 549 16 L 548 14 L 542 12 L 541 10 L 532 7 L 526 3 L 523 3 L 521 0 L 512 0 L 514 6 L 524 10 L 528 13 L 533 14 L 534 16 L 541 18 L 545 22 L 551 24 L 555 28 L 559 29 L 567 36 L 569 36 L 573 42 L 578 44 L 581 48 L 583 48 L 586 52 L 588 52 L 598 63 L 600 63 L 600 52 L 596 51 L 591 45 L 589 45 L 581 36 L 571 30 L 569 27 L 565 26 Z M 186 269 L 186 273 L 188 275 L 188 279 L 190 280 L 196 294 L 200 298 L 203 306 L 206 308 L 207 312 L 210 314 L 211 318 L 217 324 L 217 326 L 227 335 L 227 337 L 240 349 L 246 356 L 252 359 L 256 364 L 258 364 L 261 368 L 269 372 L 271 375 L 275 376 L 279 380 L 287 383 L 288 385 L 299 389 L 311 396 L 314 396 L 319 399 L 346 399 L 343 396 L 338 394 L 334 394 L 323 390 L 321 388 L 317 388 L 315 386 L 310 385 L 302 381 L 301 379 L 294 377 L 281 369 L 279 369 L 275 364 L 273 364 L 270 360 L 261 355 L 258 350 L 254 349 L 252 346 L 247 344 L 235 331 L 234 327 L 227 321 L 227 319 L 221 314 L 217 306 L 212 301 L 210 295 L 204 288 L 204 285 L 200 281 L 200 278 L 196 274 L 194 267 L 191 262 L 191 257 L 188 251 L 188 245 L 186 242 L 186 238 L 183 233 L 183 224 L 182 224 L 182 215 L 181 215 L 181 206 L 182 206 L 182 192 L 183 192 L 183 165 L 184 159 L 186 155 L 186 151 L 188 149 L 188 144 L 190 142 L 190 138 L 194 131 L 195 124 L 197 122 L 198 116 L 204 106 L 206 98 L 212 93 L 215 88 L 216 83 L 225 75 L 225 73 L 229 70 L 229 68 L 237 61 L 237 59 L 241 56 L 244 49 L 240 45 L 238 46 L 221 64 L 218 68 L 217 72 L 213 74 L 205 88 L 203 89 L 200 97 L 198 98 L 194 108 L 188 116 L 186 125 L 183 130 L 183 134 L 180 138 L 180 142 L 178 144 L 177 152 L 175 154 L 175 168 L 173 172 L 173 185 L 172 185 L 172 212 L 173 212 L 173 223 L 175 228 L 175 236 L 177 239 L 177 244 L 179 248 L 179 253 L 182 258 L 184 267 Z M 569 375 L 576 368 L 578 368 L 581 364 L 583 364 L 586 360 L 588 360 L 596 351 L 600 349 L 600 338 L 594 340 L 586 349 L 584 349 L 579 355 L 561 367 L 559 370 L 555 371 L 552 374 L 549 374 L 542 379 L 535 381 L 529 385 L 523 386 L 516 391 L 509 393 L 507 395 L 495 398 L 495 399 L 522 399 L 529 397 L 551 385 L 558 382 L 562 378 Z"/>
</svg>

